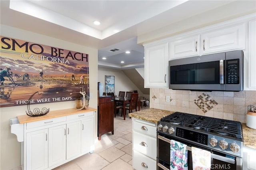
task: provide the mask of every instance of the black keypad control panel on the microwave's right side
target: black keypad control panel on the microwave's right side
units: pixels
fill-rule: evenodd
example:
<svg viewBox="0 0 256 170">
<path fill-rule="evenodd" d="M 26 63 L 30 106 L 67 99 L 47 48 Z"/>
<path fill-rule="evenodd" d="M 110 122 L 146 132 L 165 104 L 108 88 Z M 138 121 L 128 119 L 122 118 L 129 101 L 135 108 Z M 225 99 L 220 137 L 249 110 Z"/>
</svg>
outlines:
<svg viewBox="0 0 256 170">
<path fill-rule="evenodd" d="M 226 60 L 226 84 L 239 84 L 239 59 Z"/>
</svg>

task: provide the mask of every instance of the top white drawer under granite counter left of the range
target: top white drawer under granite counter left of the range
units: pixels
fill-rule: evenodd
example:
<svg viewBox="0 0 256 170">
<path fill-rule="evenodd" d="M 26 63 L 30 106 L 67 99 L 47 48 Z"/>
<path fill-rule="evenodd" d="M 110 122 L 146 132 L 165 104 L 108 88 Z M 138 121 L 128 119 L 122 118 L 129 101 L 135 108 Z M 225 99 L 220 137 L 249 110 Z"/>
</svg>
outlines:
<svg viewBox="0 0 256 170">
<path fill-rule="evenodd" d="M 147 124 L 146 124 L 147 123 Z M 156 138 L 156 124 L 134 119 L 132 130 Z"/>
</svg>

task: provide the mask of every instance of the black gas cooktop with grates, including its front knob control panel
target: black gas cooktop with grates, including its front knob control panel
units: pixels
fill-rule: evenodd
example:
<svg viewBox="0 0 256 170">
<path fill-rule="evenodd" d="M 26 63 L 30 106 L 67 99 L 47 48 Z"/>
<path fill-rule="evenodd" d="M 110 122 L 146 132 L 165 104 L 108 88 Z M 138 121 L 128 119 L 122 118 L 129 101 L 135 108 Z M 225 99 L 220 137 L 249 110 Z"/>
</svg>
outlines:
<svg viewBox="0 0 256 170">
<path fill-rule="evenodd" d="M 157 132 L 191 146 L 242 157 L 242 124 L 237 121 L 175 112 L 158 121 Z"/>
</svg>

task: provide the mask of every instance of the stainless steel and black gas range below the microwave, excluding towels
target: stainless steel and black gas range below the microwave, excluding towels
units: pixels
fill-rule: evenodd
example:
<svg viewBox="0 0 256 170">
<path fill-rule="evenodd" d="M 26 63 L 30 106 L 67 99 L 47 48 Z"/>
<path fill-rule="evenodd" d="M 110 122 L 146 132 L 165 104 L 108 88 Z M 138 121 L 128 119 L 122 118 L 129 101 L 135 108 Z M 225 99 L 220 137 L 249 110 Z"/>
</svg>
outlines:
<svg viewBox="0 0 256 170">
<path fill-rule="evenodd" d="M 211 169 L 242 170 L 242 125 L 188 113 L 175 112 L 157 123 L 157 169 L 170 169 L 170 140 L 187 145 L 188 169 L 192 170 L 191 147 L 211 152 Z"/>
</svg>

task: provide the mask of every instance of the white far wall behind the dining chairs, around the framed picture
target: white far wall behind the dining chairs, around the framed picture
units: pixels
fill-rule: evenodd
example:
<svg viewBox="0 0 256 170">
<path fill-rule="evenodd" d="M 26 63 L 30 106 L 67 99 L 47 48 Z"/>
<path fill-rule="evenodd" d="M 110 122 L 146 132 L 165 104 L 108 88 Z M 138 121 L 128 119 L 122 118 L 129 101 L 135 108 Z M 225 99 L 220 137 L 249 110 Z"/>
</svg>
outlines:
<svg viewBox="0 0 256 170">
<path fill-rule="evenodd" d="M 98 82 L 103 84 L 103 92 L 105 92 L 105 75 L 115 76 L 115 95 L 118 96 L 119 91 L 138 90 L 139 96 L 143 96 L 143 93 L 132 83 L 122 70 L 98 67 Z"/>
</svg>

